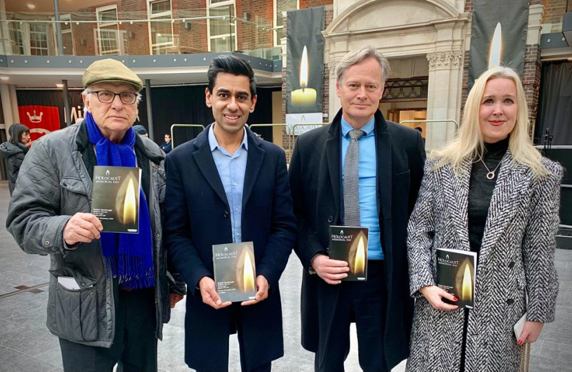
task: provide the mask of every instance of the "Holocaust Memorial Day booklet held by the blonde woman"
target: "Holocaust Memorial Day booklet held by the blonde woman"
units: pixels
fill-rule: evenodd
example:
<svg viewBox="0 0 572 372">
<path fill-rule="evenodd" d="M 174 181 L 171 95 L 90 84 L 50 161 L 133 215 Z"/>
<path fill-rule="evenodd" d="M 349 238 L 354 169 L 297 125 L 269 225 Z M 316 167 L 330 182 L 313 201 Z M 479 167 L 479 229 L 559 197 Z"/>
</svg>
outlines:
<svg viewBox="0 0 572 372">
<path fill-rule="evenodd" d="M 477 254 L 459 249 L 437 249 L 437 285 L 459 300 L 443 302 L 473 309 L 475 304 L 475 268 Z"/>
</svg>

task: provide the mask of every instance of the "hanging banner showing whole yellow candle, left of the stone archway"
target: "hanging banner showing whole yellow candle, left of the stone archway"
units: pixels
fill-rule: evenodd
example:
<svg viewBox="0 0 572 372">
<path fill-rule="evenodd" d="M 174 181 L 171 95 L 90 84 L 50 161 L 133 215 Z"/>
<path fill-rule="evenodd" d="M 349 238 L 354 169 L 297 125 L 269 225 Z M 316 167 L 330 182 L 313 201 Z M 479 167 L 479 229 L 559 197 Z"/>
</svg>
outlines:
<svg viewBox="0 0 572 372">
<path fill-rule="evenodd" d="M 287 12 L 287 133 L 302 134 L 322 123 L 325 8 Z"/>
</svg>

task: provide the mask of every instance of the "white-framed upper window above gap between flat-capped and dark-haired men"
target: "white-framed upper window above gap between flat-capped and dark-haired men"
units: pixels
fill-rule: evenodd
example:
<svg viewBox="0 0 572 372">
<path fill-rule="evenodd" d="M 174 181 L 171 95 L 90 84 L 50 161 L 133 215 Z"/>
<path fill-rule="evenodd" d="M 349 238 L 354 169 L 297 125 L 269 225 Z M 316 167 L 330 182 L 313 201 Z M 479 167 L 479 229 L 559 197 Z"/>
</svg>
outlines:
<svg viewBox="0 0 572 372">
<path fill-rule="evenodd" d="M 166 54 L 173 46 L 171 0 L 147 0 L 151 54 Z M 167 21 L 152 21 L 167 19 Z"/>
</svg>

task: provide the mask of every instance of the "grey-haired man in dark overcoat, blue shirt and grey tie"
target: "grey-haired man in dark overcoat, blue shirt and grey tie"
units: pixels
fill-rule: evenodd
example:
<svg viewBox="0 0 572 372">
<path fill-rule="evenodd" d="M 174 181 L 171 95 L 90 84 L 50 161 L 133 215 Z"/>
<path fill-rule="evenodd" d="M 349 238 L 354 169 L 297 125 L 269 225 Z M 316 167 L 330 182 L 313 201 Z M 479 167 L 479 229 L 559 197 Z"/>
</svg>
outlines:
<svg viewBox="0 0 572 372">
<path fill-rule="evenodd" d="M 371 46 L 336 68 L 342 109 L 331 124 L 301 135 L 289 167 L 304 267 L 302 345 L 314 369 L 343 372 L 356 323 L 360 366 L 385 372 L 409 355 L 413 300 L 407 275 L 407 221 L 425 163 L 418 131 L 378 110 L 389 63 Z M 348 263 L 329 254 L 329 226 L 369 228 L 365 282 L 345 282 Z"/>
</svg>

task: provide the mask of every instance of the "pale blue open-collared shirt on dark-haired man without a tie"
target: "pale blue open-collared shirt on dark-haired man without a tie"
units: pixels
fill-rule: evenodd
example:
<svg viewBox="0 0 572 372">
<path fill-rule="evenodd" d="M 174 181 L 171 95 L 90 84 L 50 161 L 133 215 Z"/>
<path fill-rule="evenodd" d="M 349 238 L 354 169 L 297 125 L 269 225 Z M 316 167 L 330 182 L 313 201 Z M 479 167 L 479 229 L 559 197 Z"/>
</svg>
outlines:
<svg viewBox="0 0 572 372">
<path fill-rule="evenodd" d="M 243 188 L 248 158 L 248 141 L 246 129 L 244 130 L 243 143 L 234 152 L 229 154 L 227 150 L 218 145 L 214 136 L 213 124 L 209 129 L 209 145 L 218 170 L 218 176 L 223 181 L 225 194 L 227 195 L 230 208 L 230 225 L 232 227 L 232 242 L 242 242 L 242 214 L 243 214 Z"/>
</svg>

